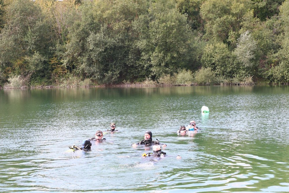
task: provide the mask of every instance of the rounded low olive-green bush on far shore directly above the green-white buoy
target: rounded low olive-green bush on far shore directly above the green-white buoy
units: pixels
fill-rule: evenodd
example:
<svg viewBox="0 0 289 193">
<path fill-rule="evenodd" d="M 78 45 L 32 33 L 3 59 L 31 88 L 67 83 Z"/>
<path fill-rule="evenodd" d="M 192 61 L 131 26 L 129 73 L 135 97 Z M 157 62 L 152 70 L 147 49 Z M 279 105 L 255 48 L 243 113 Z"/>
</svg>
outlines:
<svg viewBox="0 0 289 193">
<path fill-rule="evenodd" d="M 197 84 L 214 84 L 217 83 L 217 79 L 215 73 L 212 69 L 209 68 L 201 68 L 195 74 L 195 82 Z"/>
</svg>

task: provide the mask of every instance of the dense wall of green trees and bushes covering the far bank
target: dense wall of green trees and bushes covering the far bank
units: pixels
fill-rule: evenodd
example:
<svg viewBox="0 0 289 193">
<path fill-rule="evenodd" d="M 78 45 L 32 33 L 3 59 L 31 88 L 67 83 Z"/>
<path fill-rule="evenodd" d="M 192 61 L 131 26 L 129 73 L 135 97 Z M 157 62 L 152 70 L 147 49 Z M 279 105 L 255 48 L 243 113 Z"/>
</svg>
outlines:
<svg viewBox="0 0 289 193">
<path fill-rule="evenodd" d="M 289 0 L 0 0 L 0 85 L 289 83 L 288 10 Z"/>
</svg>

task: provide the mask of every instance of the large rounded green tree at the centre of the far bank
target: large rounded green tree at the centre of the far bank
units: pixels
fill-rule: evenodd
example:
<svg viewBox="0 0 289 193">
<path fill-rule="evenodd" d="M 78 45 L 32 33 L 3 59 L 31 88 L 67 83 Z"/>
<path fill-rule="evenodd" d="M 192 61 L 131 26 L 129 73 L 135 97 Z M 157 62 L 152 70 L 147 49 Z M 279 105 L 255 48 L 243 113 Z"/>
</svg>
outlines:
<svg viewBox="0 0 289 193">
<path fill-rule="evenodd" d="M 140 17 L 138 49 L 141 61 L 149 65 L 151 78 L 188 67 L 192 59 L 192 31 L 185 15 L 173 1 L 152 3 L 147 17 Z M 145 26 L 145 27 L 141 27 Z"/>
</svg>

